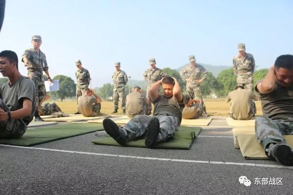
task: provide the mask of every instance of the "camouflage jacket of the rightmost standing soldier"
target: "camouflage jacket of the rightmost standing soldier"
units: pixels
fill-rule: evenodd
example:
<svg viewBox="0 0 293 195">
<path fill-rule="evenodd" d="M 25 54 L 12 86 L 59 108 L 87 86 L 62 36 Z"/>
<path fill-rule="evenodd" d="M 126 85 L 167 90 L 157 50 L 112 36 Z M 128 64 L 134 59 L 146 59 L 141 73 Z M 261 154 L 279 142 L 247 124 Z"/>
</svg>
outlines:
<svg viewBox="0 0 293 195">
<path fill-rule="evenodd" d="M 255 61 L 251 54 L 246 53 L 243 59 L 240 55 L 233 58 L 233 70 L 237 77 L 237 83 L 252 83 Z"/>
</svg>

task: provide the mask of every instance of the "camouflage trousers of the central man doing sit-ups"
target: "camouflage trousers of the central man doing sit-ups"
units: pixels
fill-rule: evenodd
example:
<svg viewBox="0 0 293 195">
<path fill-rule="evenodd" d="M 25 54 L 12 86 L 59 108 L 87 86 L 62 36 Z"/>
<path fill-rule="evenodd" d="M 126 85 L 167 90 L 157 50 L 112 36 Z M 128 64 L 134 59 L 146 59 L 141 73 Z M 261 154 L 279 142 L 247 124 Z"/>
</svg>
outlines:
<svg viewBox="0 0 293 195">
<path fill-rule="evenodd" d="M 154 116 L 160 121 L 160 132 L 157 142 L 166 141 L 173 137 L 174 132 L 179 130 L 176 117 L 172 116 Z M 136 139 L 142 137 L 147 131 L 147 125 L 152 117 L 139 115 L 133 117 L 122 127 L 127 132 L 127 139 Z"/>
</svg>

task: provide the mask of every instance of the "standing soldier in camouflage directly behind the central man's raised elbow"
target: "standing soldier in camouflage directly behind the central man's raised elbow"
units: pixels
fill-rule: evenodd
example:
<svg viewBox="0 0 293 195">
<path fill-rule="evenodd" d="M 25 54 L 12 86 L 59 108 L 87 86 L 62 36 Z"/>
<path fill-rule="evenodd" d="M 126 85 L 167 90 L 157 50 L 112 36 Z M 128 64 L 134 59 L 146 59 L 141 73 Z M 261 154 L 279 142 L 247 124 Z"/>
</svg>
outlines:
<svg viewBox="0 0 293 195">
<path fill-rule="evenodd" d="M 156 59 L 154 58 L 149 59 L 148 63 L 150 65 L 150 68 L 145 71 L 144 78 L 147 81 L 146 98 L 149 99 L 149 95 L 148 95 L 149 87 L 155 82 L 157 82 L 158 80 L 161 80 L 162 78 L 167 77 L 167 74 L 164 73 L 160 68 L 156 67 Z M 146 109 L 147 109 L 146 115 L 150 115 L 151 103 L 147 104 Z"/>
</svg>

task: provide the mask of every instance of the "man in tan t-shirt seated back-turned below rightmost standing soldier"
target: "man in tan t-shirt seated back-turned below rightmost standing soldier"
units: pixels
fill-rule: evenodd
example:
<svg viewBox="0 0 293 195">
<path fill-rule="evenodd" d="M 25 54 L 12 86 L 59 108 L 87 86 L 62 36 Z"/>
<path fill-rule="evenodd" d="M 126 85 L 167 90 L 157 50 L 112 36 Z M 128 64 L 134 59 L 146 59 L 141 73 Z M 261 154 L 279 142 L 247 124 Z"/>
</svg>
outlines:
<svg viewBox="0 0 293 195">
<path fill-rule="evenodd" d="M 231 101 L 230 117 L 234 120 L 250 120 L 254 117 L 256 107 L 253 99 L 258 100 L 258 96 L 242 85 L 237 86 L 226 98 L 226 103 Z"/>
</svg>

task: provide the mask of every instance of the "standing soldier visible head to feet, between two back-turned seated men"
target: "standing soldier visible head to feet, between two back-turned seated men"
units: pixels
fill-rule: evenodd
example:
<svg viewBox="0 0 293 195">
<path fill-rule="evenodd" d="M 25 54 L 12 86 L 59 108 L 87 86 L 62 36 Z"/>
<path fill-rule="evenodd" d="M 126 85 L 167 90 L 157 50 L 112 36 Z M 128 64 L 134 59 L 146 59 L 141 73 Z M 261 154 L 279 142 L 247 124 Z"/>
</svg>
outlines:
<svg viewBox="0 0 293 195">
<path fill-rule="evenodd" d="M 116 71 L 113 73 L 112 78 L 114 82 L 113 87 L 113 99 L 114 99 L 114 111 L 112 113 L 117 113 L 119 98 L 121 99 L 122 113 L 125 114 L 125 85 L 128 81 L 127 75 L 123 70 L 120 70 L 120 62 L 115 63 Z"/>
</svg>

